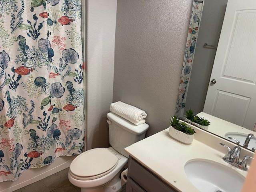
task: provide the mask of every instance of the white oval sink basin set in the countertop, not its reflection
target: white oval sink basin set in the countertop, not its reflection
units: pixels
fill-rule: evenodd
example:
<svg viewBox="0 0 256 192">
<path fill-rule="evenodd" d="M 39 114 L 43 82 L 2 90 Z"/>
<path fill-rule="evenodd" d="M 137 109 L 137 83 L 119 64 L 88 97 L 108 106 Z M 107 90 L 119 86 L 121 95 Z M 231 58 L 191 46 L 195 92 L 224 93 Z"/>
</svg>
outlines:
<svg viewBox="0 0 256 192">
<path fill-rule="evenodd" d="M 210 160 L 192 160 L 185 172 L 200 192 L 240 192 L 244 177 L 227 166 Z"/>
</svg>

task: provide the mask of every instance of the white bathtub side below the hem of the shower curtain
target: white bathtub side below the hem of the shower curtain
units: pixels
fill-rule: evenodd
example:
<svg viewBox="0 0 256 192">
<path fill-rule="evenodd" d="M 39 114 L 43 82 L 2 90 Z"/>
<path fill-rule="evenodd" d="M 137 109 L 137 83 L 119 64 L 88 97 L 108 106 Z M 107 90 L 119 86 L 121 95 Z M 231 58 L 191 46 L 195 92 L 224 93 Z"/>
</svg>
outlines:
<svg viewBox="0 0 256 192">
<path fill-rule="evenodd" d="M 20 174 L 16 181 L 5 181 L 0 183 L 0 192 L 13 192 L 29 184 L 42 180 L 54 173 L 68 168 L 76 156 L 58 157 L 54 162 L 42 168 L 32 168 Z"/>
</svg>

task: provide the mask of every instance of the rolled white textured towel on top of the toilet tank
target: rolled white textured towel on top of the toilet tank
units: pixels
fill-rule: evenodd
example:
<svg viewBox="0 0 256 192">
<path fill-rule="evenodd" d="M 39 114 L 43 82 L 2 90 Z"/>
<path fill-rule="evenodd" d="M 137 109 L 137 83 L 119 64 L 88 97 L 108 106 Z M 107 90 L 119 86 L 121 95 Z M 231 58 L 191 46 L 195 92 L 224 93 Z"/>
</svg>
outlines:
<svg viewBox="0 0 256 192">
<path fill-rule="evenodd" d="M 145 111 L 121 101 L 110 104 L 110 112 L 125 118 L 135 125 L 144 124 L 146 122 L 144 120 L 147 116 Z"/>
</svg>

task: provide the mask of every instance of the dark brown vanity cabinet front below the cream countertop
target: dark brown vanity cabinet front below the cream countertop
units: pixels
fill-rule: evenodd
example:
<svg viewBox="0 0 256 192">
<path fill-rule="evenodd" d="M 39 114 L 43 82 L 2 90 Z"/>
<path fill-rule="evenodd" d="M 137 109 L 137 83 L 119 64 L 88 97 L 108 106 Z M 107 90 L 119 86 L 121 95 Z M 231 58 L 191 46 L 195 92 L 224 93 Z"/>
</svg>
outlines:
<svg viewBox="0 0 256 192">
<path fill-rule="evenodd" d="M 128 162 L 126 192 L 177 192 L 132 157 Z"/>
</svg>

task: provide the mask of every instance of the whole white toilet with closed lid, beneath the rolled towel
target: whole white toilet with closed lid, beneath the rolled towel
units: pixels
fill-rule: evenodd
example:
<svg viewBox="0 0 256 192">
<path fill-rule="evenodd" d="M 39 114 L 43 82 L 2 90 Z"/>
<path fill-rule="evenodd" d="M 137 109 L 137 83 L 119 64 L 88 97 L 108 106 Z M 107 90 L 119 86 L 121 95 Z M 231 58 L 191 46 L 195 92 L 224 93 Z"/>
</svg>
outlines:
<svg viewBox="0 0 256 192">
<path fill-rule="evenodd" d="M 68 179 L 81 192 L 119 192 L 121 172 L 127 167 L 124 148 L 145 138 L 148 124 L 134 125 L 124 118 L 107 114 L 109 148 L 95 148 L 78 155 L 70 164 Z"/>
</svg>

